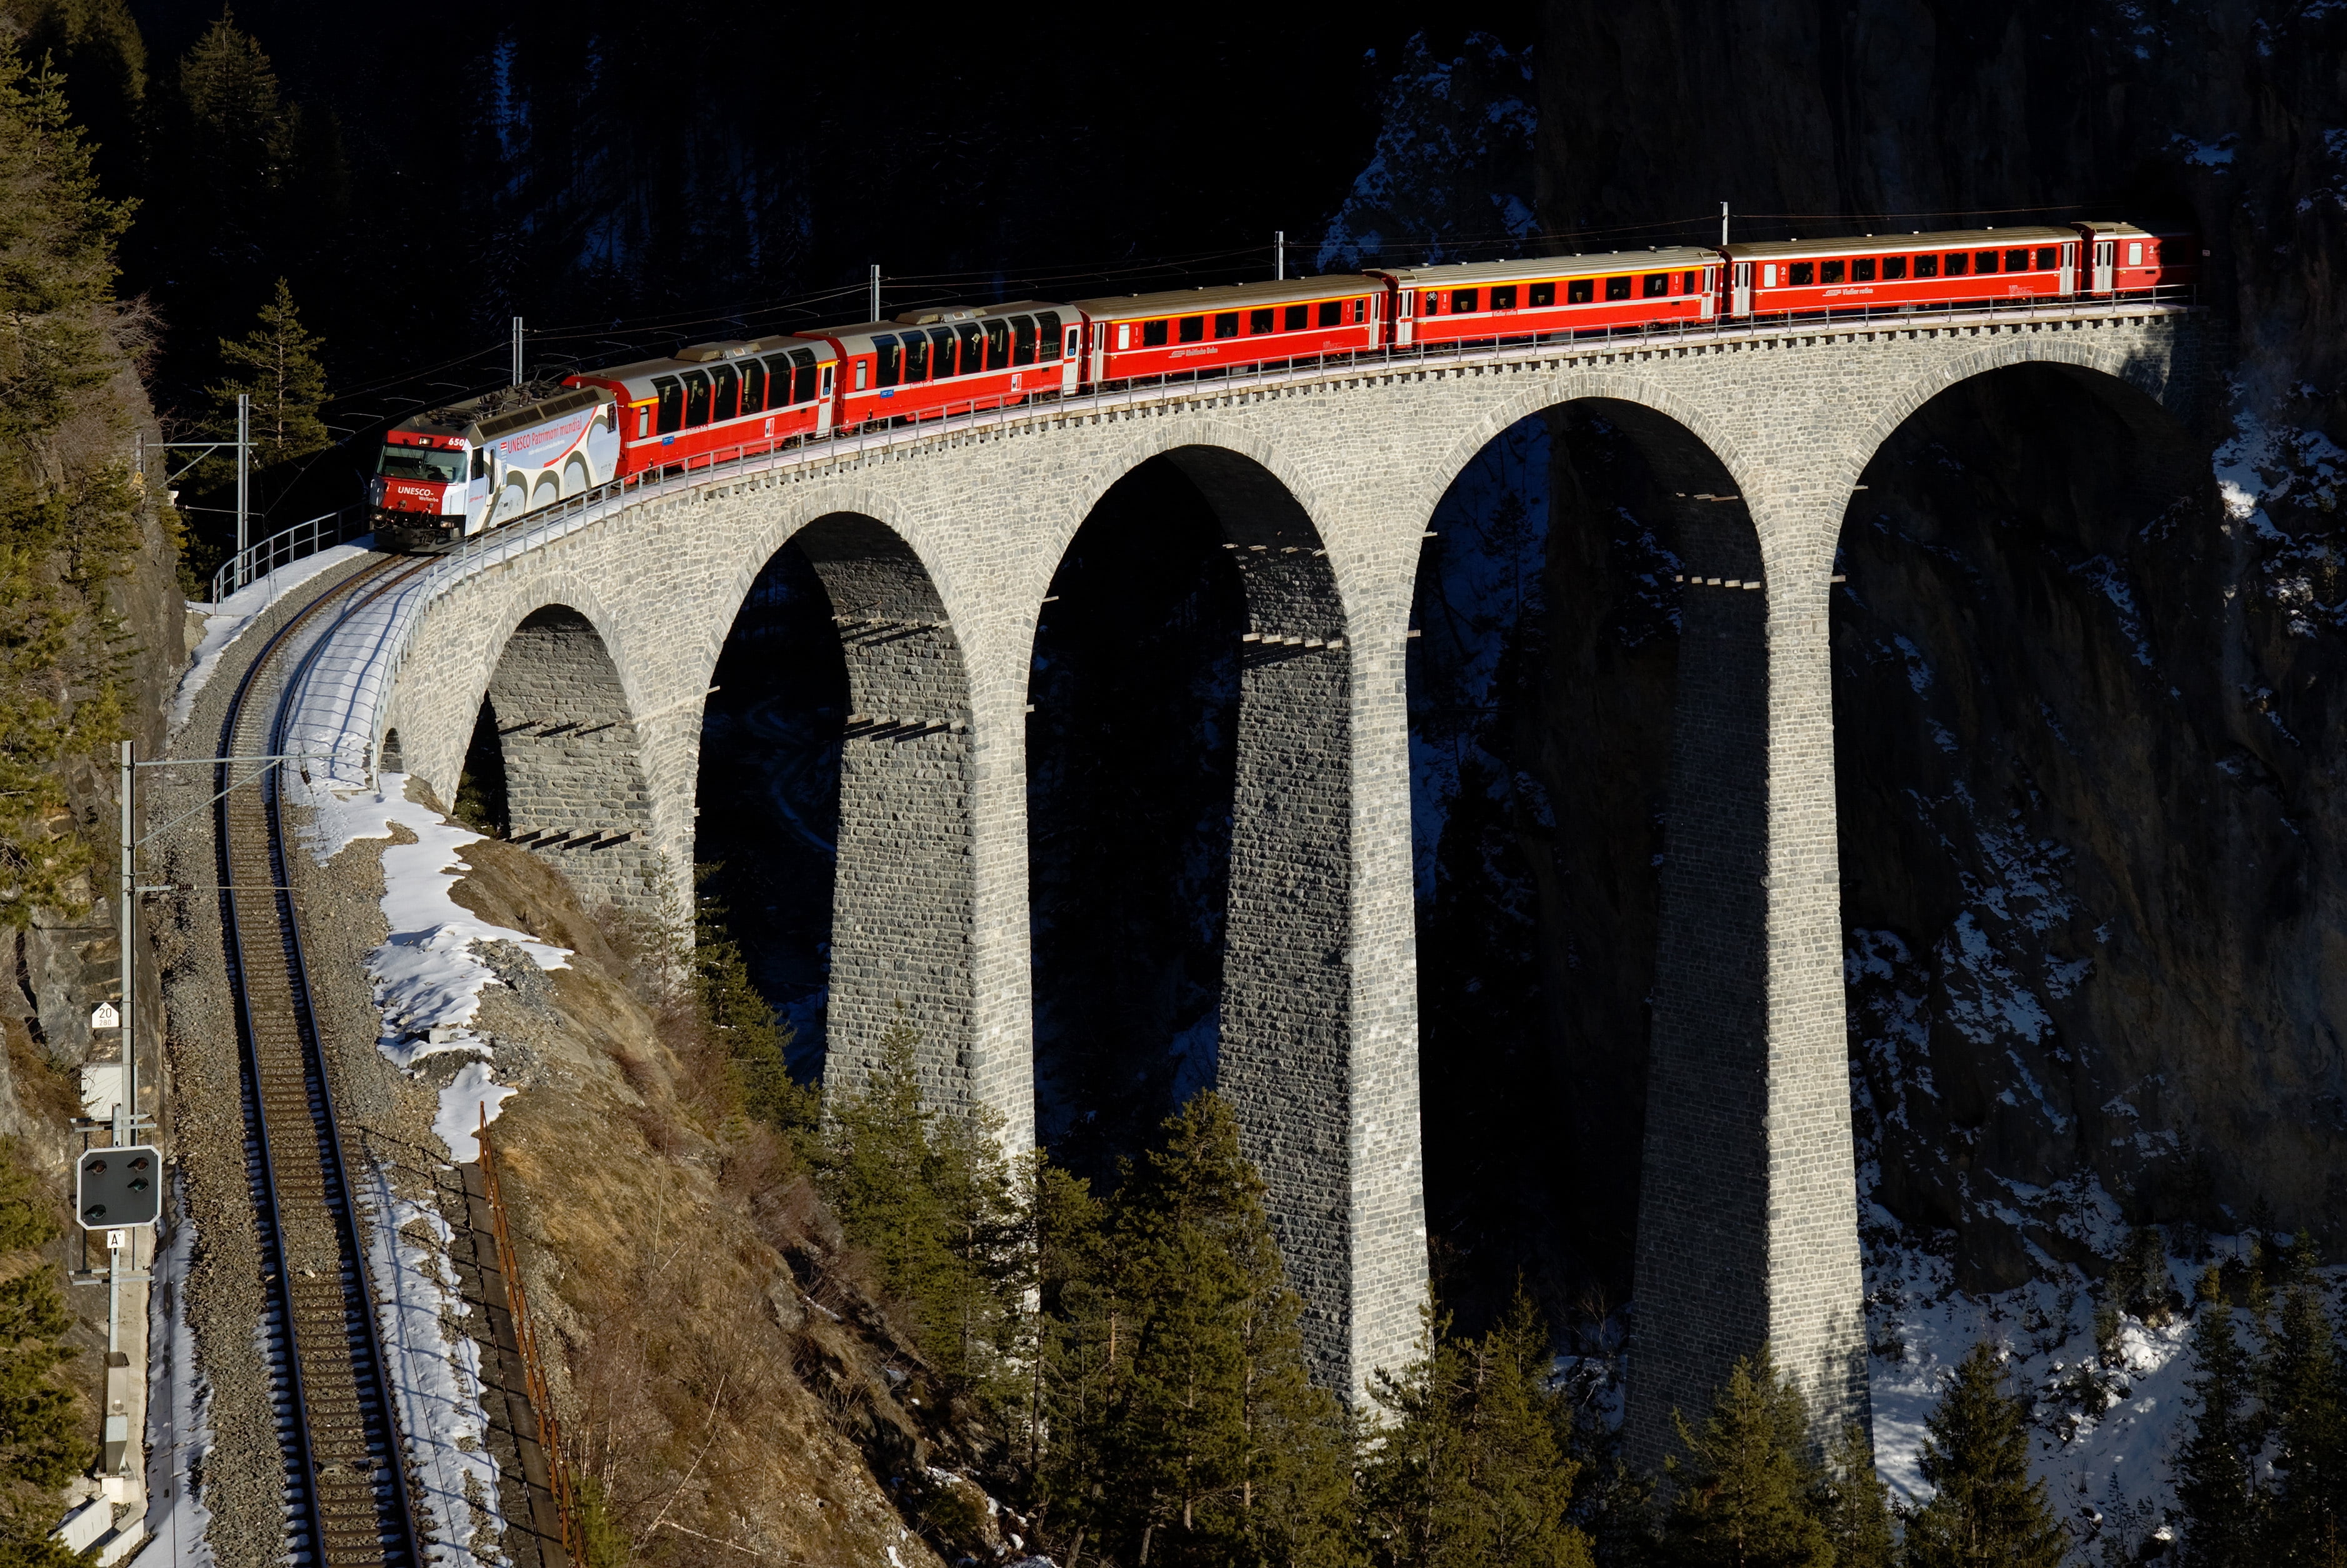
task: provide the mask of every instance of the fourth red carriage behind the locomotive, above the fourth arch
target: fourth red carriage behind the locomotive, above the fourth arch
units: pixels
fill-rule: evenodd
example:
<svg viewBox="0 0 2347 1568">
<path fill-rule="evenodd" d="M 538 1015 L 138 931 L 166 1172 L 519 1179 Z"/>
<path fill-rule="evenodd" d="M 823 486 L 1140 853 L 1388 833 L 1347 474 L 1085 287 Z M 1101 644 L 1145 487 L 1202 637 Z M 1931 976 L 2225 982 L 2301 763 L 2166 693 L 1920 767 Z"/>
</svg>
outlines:
<svg viewBox="0 0 2347 1568">
<path fill-rule="evenodd" d="M 1394 343 L 1467 343 L 1519 333 L 1709 322 L 1718 251 L 1535 256 L 1373 272 L 1392 291 Z"/>
</svg>

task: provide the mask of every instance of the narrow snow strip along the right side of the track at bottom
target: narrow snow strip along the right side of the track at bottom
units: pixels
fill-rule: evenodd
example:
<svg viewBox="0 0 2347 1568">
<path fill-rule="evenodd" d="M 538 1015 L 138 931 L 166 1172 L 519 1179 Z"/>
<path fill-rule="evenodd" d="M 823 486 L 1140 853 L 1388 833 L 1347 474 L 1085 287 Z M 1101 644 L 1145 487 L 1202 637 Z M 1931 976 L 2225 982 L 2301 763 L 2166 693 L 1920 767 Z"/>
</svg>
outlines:
<svg viewBox="0 0 2347 1568">
<path fill-rule="evenodd" d="M 366 1265 L 376 1277 L 383 1354 L 415 1467 L 415 1500 L 432 1514 L 444 1568 L 483 1568 L 472 1552 L 472 1498 L 486 1500 L 493 1533 L 502 1535 L 505 1521 L 495 1514 L 498 1460 L 488 1453 L 481 1406 L 481 1347 L 455 1326 L 472 1312 L 446 1263 L 455 1232 L 437 1209 L 399 1197 L 380 1164 L 368 1176 L 361 1192 Z"/>
</svg>

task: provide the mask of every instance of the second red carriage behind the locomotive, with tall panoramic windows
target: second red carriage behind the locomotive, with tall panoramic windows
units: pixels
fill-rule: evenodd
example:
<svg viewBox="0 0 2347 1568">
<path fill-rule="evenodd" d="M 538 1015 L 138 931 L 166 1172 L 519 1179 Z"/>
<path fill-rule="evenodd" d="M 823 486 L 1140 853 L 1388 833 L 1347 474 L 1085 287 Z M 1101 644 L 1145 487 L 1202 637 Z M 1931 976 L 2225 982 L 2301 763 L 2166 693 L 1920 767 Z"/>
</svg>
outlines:
<svg viewBox="0 0 2347 1568">
<path fill-rule="evenodd" d="M 908 310 L 894 322 L 812 326 L 840 357 L 840 427 L 934 420 L 1037 392 L 1075 392 L 1082 319 L 1070 305 L 1019 300 L 983 310 Z"/>
</svg>

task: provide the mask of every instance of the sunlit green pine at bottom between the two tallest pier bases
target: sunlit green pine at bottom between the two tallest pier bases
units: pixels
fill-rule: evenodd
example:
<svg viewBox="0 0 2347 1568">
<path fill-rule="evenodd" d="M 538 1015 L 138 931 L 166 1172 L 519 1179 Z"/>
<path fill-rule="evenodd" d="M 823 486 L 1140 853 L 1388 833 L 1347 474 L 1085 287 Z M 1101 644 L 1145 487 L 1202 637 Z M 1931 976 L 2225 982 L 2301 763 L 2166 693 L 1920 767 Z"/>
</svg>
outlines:
<svg viewBox="0 0 2347 1568">
<path fill-rule="evenodd" d="M 1549 1331 L 1516 1289 L 1479 1340 L 1432 1310 L 1422 1357 L 1373 1394 L 1392 1418 L 1364 1474 L 1373 1552 L 1392 1568 L 1591 1568 L 1572 1523 L 1572 1408 L 1547 1385 Z"/>
</svg>

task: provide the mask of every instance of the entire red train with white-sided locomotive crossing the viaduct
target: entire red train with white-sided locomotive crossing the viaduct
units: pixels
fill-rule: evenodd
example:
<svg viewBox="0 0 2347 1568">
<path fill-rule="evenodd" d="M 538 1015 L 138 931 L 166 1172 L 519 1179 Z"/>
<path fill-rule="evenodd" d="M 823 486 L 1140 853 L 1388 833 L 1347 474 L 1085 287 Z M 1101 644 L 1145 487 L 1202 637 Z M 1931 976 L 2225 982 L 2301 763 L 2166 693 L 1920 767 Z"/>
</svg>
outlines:
<svg viewBox="0 0 2347 1568">
<path fill-rule="evenodd" d="M 697 343 L 432 408 L 385 434 L 368 505 L 383 545 L 415 549 L 629 474 L 840 430 L 1413 345 L 2148 296 L 2197 282 L 2201 256 L 2187 232 L 2072 223 L 927 307 Z"/>
</svg>

